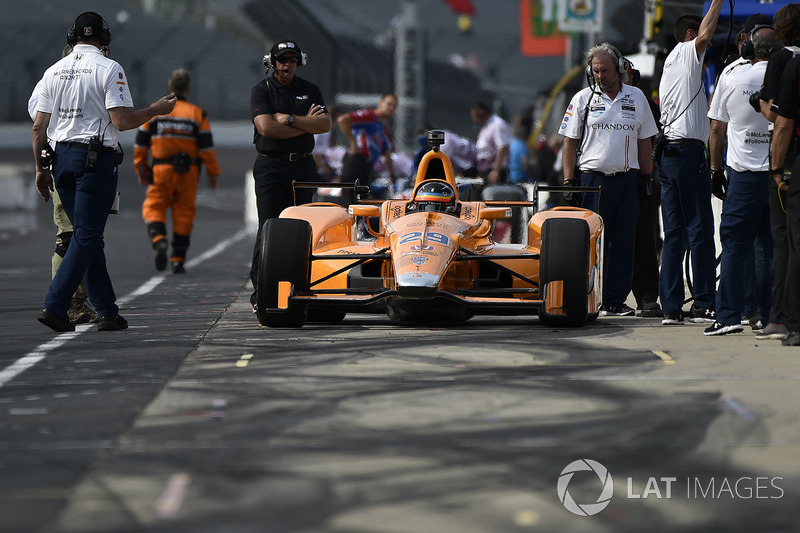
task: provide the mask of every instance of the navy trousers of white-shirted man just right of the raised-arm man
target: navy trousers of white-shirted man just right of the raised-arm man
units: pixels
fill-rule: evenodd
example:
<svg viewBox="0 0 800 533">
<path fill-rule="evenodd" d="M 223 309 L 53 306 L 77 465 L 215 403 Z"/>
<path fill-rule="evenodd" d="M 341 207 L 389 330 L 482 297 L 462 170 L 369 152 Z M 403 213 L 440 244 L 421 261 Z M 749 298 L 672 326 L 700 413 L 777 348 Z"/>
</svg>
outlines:
<svg viewBox="0 0 800 533">
<path fill-rule="evenodd" d="M 745 306 L 745 276 L 755 274 L 753 242 L 769 227 L 768 172 L 729 171 L 719 238 L 722 264 L 717 292 L 717 322 L 739 324 Z M 766 243 L 765 243 L 766 244 Z M 771 247 L 772 241 L 770 239 Z"/>
</svg>

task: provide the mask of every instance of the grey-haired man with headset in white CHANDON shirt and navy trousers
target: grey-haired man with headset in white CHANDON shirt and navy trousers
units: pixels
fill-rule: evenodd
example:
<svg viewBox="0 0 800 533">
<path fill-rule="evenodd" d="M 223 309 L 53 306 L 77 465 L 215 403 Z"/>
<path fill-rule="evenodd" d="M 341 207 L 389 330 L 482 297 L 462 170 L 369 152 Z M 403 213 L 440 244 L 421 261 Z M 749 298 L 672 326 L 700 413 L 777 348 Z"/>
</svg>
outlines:
<svg viewBox="0 0 800 533">
<path fill-rule="evenodd" d="M 644 93 L 626 84 L 628 62 L 619 50 L 603 43 L 586 56 L 594 83 L 572 98 L 561 123 L 564 184 L 602 188 L 581 203 L 605 224 L 601 313 L 632 316 L 625 300 L 633 281 L 638 181 L 640 174 L 652 179 L 650 138 L 658 128 Z"/>
</svg>

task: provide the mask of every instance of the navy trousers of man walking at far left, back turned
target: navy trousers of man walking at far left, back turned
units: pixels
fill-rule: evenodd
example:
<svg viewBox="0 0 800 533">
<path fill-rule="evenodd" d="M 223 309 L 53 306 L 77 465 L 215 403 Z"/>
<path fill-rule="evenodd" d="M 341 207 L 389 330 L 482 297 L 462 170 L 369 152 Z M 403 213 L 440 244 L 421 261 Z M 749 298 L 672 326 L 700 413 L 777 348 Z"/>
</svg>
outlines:
<svg viewBox="0 0 800 533">
<path fill-rule="evenodd" d="M 44 304 L 59 316 L 67 315 L 70 299 L 82 279 L 98 316 L 113 317 L 119 313 L 103 251 L 103 232 L 116 196 L 117 178 L 112 152 L 100 152 L 97 168 L 87 170 L 86 150 L 56 146 L 53 179 L 74 227 L 72 241 L 50 283 Z"/>
</svg>

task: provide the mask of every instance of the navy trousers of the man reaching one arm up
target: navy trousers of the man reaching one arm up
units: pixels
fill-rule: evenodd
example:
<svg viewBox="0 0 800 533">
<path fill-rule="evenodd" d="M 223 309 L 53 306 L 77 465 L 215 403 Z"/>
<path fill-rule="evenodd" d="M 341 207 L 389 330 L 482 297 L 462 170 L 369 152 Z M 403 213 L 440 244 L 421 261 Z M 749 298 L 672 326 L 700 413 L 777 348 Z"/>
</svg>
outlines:
<svg viewBox="0 0 800 533">
<path fill-rule="evenodd" d="M 683 308 L 683 256 L 688 245 L 692 257 L 694 303 L 714 308 L 717 274 L 714 214 L 711 211 L 711 176 L 705 146 L 669 144 L 657 163 L 661 178 L 661 250 L 659 296 L 664 314 Z"/>
</svg>

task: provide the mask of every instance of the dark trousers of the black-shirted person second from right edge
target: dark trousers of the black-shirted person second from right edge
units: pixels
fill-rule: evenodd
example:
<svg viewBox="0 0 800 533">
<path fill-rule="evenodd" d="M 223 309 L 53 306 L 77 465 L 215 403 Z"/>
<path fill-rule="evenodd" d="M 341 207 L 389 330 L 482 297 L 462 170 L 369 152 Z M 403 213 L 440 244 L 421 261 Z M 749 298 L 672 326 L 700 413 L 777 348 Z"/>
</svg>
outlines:
<svg viewBox="0 0 800 533">
<path fill-rule="evenodd" d="M 774 179 L 769 180 L 769 223 L 772 230 L 772 306 L 769 321 L 775 324 L 786 322 L 784 295 L 786 293 L 786 269 L 789 265 L 789 241 L 786 230 L 786 205 L 788 195 L 781 192 Z"/>
</svg>

